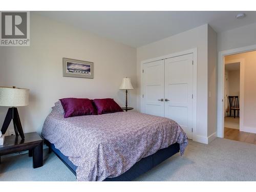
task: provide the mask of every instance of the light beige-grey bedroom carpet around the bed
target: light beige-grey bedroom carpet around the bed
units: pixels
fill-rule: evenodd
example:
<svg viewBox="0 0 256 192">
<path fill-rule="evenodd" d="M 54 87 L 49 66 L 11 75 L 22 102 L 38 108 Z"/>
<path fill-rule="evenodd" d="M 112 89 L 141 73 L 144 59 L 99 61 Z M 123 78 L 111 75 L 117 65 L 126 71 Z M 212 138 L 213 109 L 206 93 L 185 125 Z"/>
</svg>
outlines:
<svg viewBox="0 0 256 192">
<path fill-rule="evenodd" d="M 32 168 L 28 155 L 3 158 L 1 181 L 75 181 L 52 153 L 44 166 Z M 256 145 L 217 138 L 210 144 L 189 141 L 185 155 L 167 159 L 136 181 L 256 181 Z"/>
</svg>

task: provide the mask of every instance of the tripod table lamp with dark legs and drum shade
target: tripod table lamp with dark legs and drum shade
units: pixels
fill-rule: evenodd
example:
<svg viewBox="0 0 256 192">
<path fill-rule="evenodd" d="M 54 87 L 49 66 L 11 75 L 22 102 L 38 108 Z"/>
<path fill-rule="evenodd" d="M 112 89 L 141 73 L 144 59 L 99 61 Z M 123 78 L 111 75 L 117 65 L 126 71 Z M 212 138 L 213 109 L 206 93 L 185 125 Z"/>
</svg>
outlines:
<svg viewBox="0 0 256 192">
<path fill-rule="evenodd" d="M 16 106 L 27 106 L 28 104 L 28 89 L 21 89 L 16 87 L 0 87 L 0 106 L 11 106 L 11 108 L 8 109 L 4 124 L 1 129 L 2 134 L 6 133 L 11 120 L 13 120 L 14 132 L 16 137 L 18 137 L 19 134 L 22 139 L 25 139 L 22 129 L 22 123 L 20 122 Z"/>
</svg>

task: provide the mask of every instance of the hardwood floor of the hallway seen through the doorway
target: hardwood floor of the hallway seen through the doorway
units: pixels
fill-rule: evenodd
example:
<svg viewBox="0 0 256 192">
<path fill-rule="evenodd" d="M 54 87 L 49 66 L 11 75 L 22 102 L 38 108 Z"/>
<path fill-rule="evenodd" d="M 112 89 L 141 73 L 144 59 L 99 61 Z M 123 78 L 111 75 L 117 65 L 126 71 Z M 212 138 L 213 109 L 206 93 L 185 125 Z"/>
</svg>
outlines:
<svg viewBox="0 0 256 192">
<path fill-rule="evenodd" d="M 256 134 L 241 132 L 237 129 L 224 128 L 224 138 L 256 144 Z"/>
</svg>

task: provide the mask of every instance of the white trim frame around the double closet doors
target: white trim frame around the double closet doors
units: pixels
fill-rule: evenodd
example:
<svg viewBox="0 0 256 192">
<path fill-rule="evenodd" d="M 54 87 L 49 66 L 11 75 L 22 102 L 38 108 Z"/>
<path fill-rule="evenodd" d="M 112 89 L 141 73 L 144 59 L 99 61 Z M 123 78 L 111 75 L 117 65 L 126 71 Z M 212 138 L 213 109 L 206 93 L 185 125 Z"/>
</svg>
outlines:
<svg viewBox="0 0 256 192">
<path fill-rule="evenodd" d="M 144 63 L 148 62 L 153 62 L 157 60 L 162 60 L 162 59 L 167 59 L 167 58 L 172 58 L 172 57 L 178 57 L 182 55 L 187 55 L 187 54 L 193 54 L 193 133 L 192 133 L 192 138 L 197 138 L 197 48 L 194 49 L 189 49 L 181 52 L 176 52 L 176 53 L 171 53 L 168 55 L 163 55 L 160 57 L 155 57 L 151 59 L 146 59 L 142 60 L 140 62 L 140 112 L 142 112 L 141 109 L 143 109 L 143 65 Z"/>
</svg>

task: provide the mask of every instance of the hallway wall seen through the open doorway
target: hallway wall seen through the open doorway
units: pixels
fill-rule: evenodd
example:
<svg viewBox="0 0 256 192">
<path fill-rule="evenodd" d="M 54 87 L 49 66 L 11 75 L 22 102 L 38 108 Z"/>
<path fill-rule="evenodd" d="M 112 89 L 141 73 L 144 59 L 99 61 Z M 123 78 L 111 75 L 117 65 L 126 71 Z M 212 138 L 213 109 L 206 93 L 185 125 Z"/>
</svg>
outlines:
<svg viewBox="0 0 256 192">
<path fill-rule="evenodd" d="M 256 133 L 256 51 L 225 56 L 225 61 L 241 58 L 245 60 L 244 126 L 250 127 Z"/>
</svg>

